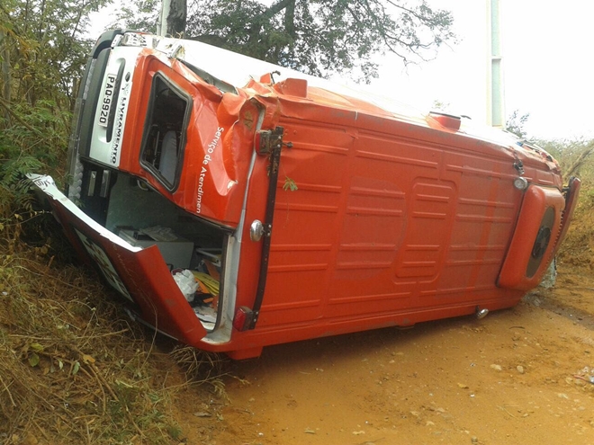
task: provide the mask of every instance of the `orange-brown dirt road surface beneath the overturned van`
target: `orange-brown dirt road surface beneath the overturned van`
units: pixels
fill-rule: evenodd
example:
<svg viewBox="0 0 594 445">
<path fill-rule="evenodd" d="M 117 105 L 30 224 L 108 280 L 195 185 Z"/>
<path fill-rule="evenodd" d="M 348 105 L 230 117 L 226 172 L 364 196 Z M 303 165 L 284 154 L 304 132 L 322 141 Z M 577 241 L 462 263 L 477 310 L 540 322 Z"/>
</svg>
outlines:
<svg viewBox="0 0 594 445">
<path fill-rule="evenodd" d="M 518 307 L 265 348 L 229 402 L 179 422 L 205 444 L 594 443 L 594 281 L 560 271 Z M 195 400 L 195 399 L 194 399 Z"/>
</svg>

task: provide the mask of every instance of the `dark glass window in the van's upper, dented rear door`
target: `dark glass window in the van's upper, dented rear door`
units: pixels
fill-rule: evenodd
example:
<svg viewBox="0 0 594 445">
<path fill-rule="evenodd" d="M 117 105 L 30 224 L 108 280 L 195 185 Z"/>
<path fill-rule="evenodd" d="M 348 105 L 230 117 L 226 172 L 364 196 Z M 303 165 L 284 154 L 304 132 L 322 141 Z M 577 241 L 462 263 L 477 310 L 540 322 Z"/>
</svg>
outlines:
<svg viewBox="0 0 594 445">
<path fill-rule="evenodd" d="M 140 163 L 169 190 L 174 190 L 184 155 L 189 96 L 155 75 L 150 92 Z"/>
</svg>

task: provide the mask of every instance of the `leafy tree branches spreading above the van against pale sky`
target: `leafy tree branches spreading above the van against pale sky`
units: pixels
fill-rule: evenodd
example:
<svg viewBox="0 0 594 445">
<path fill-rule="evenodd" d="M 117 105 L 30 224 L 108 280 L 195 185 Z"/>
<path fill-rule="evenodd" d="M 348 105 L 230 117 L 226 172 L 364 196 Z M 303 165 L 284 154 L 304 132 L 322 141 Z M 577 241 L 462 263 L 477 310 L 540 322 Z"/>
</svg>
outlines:
<svg viewBox="0 0 594 445">
<path fill-rule="evenodd" d="M 157 4 L 142 0 L 139 9 L 150 2 Z M 154 13 L 121 19 L 149 30 L 157 21 Z M 349 71 L 368 80 L 378 56 L 392 53 L 404 64 L 434 58 L 455 42 L 453 22 L 425 0 L 189 0 L 185 35 L 315 76 Z"/>
</svg>

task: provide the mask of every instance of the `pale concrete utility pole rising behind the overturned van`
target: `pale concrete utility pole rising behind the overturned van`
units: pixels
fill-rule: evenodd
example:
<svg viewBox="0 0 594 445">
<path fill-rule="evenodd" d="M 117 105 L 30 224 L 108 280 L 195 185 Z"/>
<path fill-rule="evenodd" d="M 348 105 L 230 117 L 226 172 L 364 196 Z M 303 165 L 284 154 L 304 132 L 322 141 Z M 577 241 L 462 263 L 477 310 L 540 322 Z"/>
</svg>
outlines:
<svg viewBox="0 0 594 445">
<path fill-rule="evenodd" d="M 487 68 L 487 123 L 505 127 L 505 98 L 503 90 L 503 56 L 501 54 L 500 0 L 487 1 L 487 28 L 489 32 L 489 67 Z"/>
</svg>

